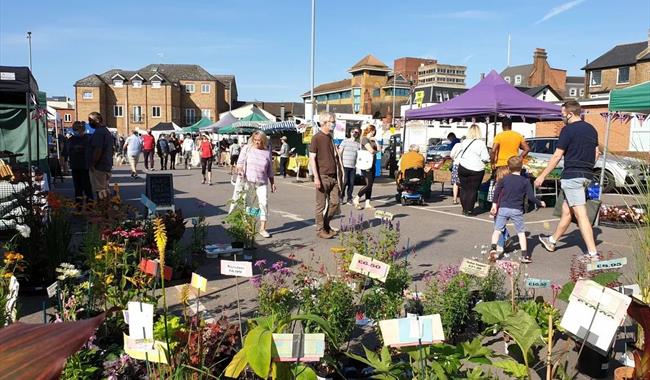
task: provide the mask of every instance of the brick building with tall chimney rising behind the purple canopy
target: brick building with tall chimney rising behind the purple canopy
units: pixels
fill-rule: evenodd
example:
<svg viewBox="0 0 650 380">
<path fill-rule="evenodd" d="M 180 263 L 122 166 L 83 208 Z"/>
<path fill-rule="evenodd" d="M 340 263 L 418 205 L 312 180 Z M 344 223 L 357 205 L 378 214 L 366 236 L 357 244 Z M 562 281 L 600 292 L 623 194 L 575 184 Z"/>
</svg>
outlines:
<svg viewBox="0 0 650 380">
<path fill-rule="evenodd" d="M 532 64 L 506 67 L 501 77 L 516 87 L 549 85 L 562 99 L 578 98 L 581 92 L 584 94 L 584 78 L 567 76 L 566 70 L 551 67 L 548 54 L 542 48 L 535 49 Z"/>
</svg>

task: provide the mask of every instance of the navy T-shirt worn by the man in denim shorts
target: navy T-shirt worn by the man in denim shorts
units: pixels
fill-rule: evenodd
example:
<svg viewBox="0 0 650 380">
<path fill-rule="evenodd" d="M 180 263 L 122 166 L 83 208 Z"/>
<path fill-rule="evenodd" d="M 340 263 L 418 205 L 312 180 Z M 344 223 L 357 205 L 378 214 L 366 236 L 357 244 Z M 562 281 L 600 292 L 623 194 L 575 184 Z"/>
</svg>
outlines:
<svg viewBox="0 0 650 380">
<path fill-rule="evenodd" d="M 585 121 L 567 124 L 560 132 L 557 147 L 564 150 L 562 179 L 592 179 L 598 132 L 591 124 Z"/>
</svg>

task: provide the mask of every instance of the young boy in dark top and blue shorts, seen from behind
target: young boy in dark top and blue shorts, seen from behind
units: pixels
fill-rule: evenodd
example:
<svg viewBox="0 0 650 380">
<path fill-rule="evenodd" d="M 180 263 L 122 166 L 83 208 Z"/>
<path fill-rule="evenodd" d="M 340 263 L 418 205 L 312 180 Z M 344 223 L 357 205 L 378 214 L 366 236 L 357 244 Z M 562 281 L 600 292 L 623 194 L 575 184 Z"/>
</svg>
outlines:
<svg viewBox="0 0 650 380">
<path fill-rule="evenodd" d="M 531 263 L 528 245 L 526 244 L 526 226 L 524 225 L 524 202 L 526 199 L 534 201 L 538 207 L 546 207 L 546 204 L 535 198 L 533 187 L 527 178 L 521 176 L 523 166 L 520 157 L 514 156 L 508 159 L 508 170 L 510 174 L 497 183 L 494 189 L 494 203 L 490 214 L 495 215 L 494 232 L 492 233 L 492 246 L 490 249 L 490 260 L 496 260 L 497 242 L 501 232 L 508 221 L 512 221 L 519 237 L 521 247 L 521 262 Z"/>
</svg>

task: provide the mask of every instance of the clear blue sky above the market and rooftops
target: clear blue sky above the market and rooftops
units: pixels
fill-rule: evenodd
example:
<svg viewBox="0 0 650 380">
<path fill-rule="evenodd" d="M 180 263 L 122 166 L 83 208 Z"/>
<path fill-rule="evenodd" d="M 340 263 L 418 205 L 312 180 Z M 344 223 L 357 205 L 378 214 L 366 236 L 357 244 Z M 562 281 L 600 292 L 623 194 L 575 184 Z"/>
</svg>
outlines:
<svg viewBox="0 0 650 380">
<path fill-rule="evenodd" d="M 366 54 L 467 66 L 481 73 L 532 63 L 583 75 L 617 44 L 645 41 L 650 0 L 317 0 L 315 82 L 349 78 Z M 198 64 L 236 76 L 239 100 L 301 101 L 310 88 L 311 1 L 0 0 L 0 65 L 28 66 L 39 88 L 73 97 L 74 82 L 112 68 Z"/>
</svg>

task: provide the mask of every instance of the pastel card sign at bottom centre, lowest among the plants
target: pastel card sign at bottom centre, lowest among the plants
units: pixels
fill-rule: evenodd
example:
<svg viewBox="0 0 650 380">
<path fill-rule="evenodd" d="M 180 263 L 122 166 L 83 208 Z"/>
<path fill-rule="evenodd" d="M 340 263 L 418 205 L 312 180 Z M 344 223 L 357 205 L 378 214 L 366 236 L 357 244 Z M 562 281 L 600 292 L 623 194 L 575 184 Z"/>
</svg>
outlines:
<svg viewBox="0 0 650 380">
<path fill-rule="evenodd" d="M 273 334 L 273 361 L 317 362 L 325 354 L 325 334 Z"/>
</svg>

